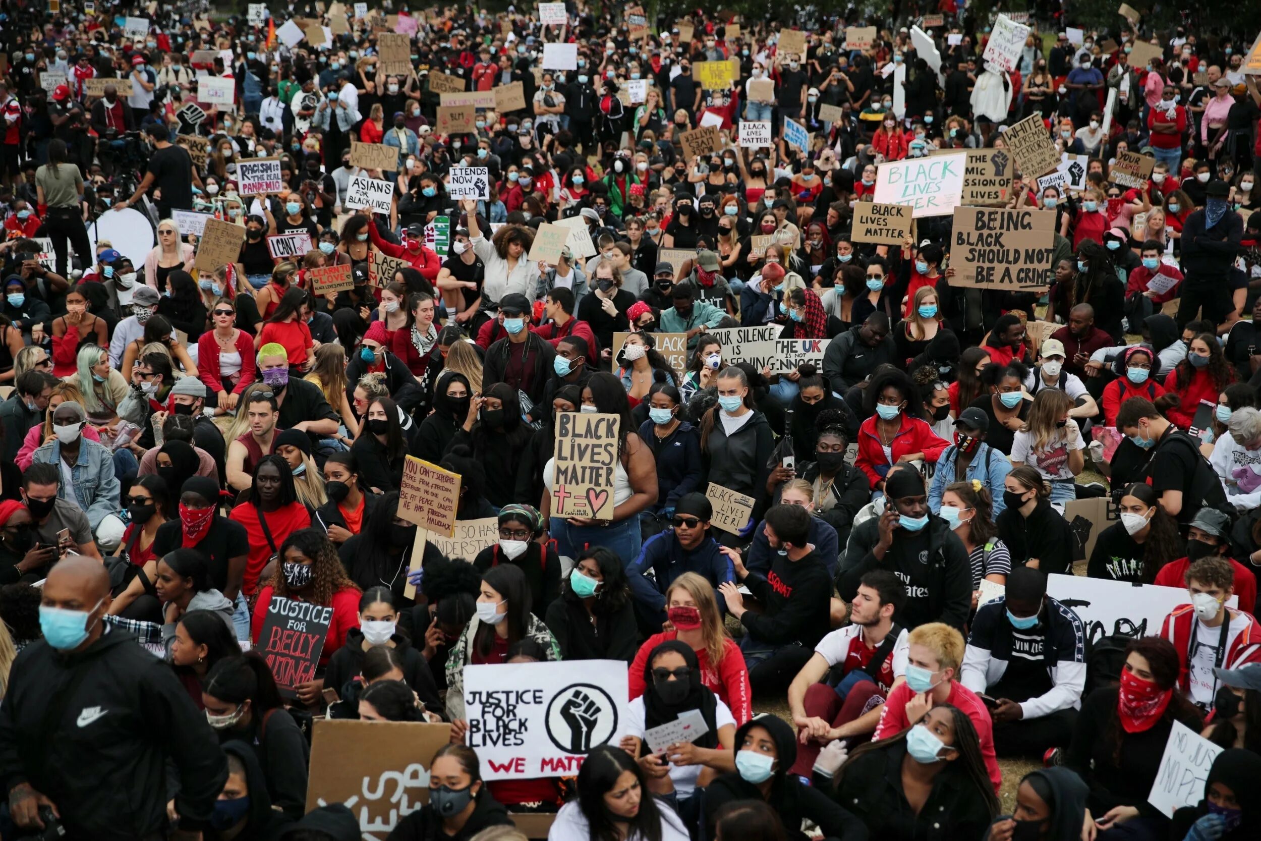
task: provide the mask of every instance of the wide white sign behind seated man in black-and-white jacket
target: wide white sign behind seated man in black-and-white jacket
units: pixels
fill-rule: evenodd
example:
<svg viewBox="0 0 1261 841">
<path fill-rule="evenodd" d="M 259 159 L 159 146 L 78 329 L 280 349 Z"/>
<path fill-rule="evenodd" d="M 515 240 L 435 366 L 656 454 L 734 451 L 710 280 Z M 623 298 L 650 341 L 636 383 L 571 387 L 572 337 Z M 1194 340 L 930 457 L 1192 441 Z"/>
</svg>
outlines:
<svg viewBox="0 0 1261 841">
<path fill-rule="evenodd" d="M 1076 528 L 1073 519 L 1069 526 Z M 1126 581 L 1058 574 L 1047 576 L 1047 595 L 1081 618 L 1090 641 L 1110 634 L 1154 637 L 1174 608 L 1190 601 L 1184 588 L 1135 586 Z M 1232 595 L 1227 604 L 1233 608 L 1238 600 Z"/>
</svg>

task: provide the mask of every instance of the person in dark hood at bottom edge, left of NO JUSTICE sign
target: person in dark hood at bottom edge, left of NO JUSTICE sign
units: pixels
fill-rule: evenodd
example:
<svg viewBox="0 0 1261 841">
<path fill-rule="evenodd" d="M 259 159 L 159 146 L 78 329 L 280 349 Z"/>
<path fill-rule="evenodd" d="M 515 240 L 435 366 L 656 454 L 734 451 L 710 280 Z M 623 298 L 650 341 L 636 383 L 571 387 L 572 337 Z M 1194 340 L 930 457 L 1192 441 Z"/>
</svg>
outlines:
<svg viewBox="0 0 1261 841">
<path fill-rule="evenodd" d="M 1255 779 L 1255 778 L 1253 778 Z M 990 825 L 985 841 L 1078 841 L 1086 821 L 1090 788 L 1068 768 L 1039 768 L 1024 775 L 1016 788 L 1011 815 L 1000 815 Z M 1026 827 L 1033 823 L 1037 832 Z M 1170 836 L 1179 837 L 1180 836 Z"/>
</svg>

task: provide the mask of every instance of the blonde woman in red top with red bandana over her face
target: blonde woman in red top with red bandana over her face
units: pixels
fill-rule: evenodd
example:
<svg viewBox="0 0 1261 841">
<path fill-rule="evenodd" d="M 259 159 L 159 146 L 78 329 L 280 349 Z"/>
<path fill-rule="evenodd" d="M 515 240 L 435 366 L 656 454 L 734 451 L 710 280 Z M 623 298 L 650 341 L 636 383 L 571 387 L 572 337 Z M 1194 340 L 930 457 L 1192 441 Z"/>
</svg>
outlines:
<svg viewBox="0 0 1261 841">
<path fill-rule="evenodd" d="M 630 663 L 630 699 L 644 692 L 644 666 L 652 651 L 663 642 L 678 639 L 696 652 L 701 683 L 730 707 L 736 724 L 752 719 L 749 670 L 740 647 L 723 627 L 714 585 L 696 572 L 683 572 L 666 589 L 665 608 L 670 629 L 649 637 Z"/>
</svg>

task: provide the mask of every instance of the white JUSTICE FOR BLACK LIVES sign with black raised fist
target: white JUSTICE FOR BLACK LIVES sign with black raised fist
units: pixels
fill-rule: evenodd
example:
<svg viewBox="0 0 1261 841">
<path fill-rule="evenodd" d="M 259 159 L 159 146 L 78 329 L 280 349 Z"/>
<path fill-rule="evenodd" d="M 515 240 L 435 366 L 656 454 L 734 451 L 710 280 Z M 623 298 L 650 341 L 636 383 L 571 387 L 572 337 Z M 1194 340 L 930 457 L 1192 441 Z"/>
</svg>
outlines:
<svg viewBox="0 0 1261 841">
<path fill-rule="evenodd" d="M 625 734 L 628 697 L 623 661 L 465 666 L 465 740 L 484 779 L 572 777 Z"/>
</svg>

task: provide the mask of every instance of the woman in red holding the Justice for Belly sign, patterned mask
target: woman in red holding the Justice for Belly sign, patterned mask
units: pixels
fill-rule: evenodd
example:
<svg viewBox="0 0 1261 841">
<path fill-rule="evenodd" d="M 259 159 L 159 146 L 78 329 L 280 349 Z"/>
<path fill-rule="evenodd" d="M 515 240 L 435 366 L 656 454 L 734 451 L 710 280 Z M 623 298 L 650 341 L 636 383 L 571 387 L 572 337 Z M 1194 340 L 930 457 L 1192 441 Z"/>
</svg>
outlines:
<svg viewBox="0 0 1261 841">
<path fill-rule="evenodd" d="M 333 608 L 328 623 L 324 648 L 320 649 L 319 667 L 323 675 L 328 658 L 344 643 L 346 634 L 359 627 L 359 588 L 346 574 L 333 542 L 319 528 L 301 528 L 280 545 L 280 557 L 271 580 L 259 589 L 253 604 L 250 637 L 259 646 L 262 623 L 271 609 L 271 596 L 279 595 L 322 608 Z M 294 687 L 298 700 L 310 706 L 320 700 L 324 678 L 299 683 Z"/>
</svg>

